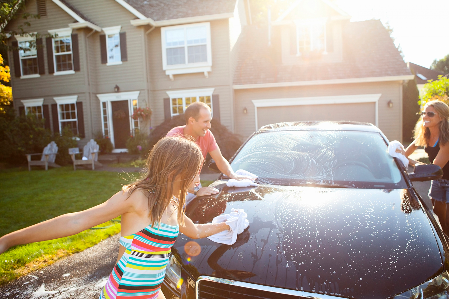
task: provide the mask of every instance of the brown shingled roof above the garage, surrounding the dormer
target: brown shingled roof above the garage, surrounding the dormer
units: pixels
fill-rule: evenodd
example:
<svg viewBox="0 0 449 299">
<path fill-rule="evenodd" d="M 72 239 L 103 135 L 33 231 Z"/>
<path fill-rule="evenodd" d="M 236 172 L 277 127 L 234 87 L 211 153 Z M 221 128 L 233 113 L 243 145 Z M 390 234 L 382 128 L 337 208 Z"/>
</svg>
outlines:
<svg viewBox="0 0 449 299">
<path fill-rule="evenodd" d="M 286 82 L 319 82 L 354 78 L 386 78 L 413 75 L 379 20 L 346 22 L 343 25 L 343 60 L 335 63 L 304 62 L 282 65 L 268 47 L 267 28 L 246 26 L 242 32 L 234 86 L 266 84 L 288 85 Z M 379 79 L 384 77 L 385 79 Z M 405 79 L 405 78 L 404 78 Z M 403 80 L 403 79 L 400 79 Z M 348 80 L 346 80 L 348 81 Z M 272 84 L 270 84 L 272 83 Z M 312 84 L 312 83 L 310 83 Z M 305 85 L 305 84 L 304 84 Z M 255 88 L 247 87 L 247 88 Z"/>
</svg>

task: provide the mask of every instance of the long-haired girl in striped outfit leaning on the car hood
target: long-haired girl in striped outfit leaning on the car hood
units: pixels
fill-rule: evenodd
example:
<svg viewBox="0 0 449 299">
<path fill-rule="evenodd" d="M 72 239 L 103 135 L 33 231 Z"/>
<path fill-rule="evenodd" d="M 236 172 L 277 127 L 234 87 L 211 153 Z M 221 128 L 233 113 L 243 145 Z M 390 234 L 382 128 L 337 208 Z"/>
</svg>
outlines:
<svg viewBox="0 0 449 299">
<path fill-rule="evenodd" d="M 196 143 L 165 137 L 150 152 L 141 179 L 103 204 L 4 235 L 0 254 L 11 246 L 78 234 L 121 215 L 119 257 L 100 299 L 165 298 L 160 287 L 178 234 L 204 238 L 229 230 L 224 222 L 194 224 L 184 215 L 185 195 L 199 183 L 203 161 Z"/>
</svg>

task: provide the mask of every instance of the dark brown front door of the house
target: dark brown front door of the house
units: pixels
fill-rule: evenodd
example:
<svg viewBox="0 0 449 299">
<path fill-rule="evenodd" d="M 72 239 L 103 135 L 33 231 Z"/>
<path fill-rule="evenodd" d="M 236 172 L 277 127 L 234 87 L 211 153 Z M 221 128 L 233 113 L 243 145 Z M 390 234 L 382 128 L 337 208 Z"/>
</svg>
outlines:
<svg viewBox="0 0 449 299">
<path fill-rule="evenodd" d="M 126 148 L 126 140 L 131 134 L 129 127 L 129 101 L 111 102 L 112 127 L 114 128 L 115 148 Z"/>
</svg>

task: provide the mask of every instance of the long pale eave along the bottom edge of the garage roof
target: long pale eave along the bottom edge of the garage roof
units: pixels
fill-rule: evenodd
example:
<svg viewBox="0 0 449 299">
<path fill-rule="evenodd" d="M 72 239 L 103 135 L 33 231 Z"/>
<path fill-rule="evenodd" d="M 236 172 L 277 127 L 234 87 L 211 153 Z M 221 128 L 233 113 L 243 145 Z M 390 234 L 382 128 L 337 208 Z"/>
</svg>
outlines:
<svg viewBox="0 0 449 299">
<path fill-rule="evenodd" d="M 415 75 L 412 74 L 412 75 L 385 76 L 385 77 L 344 78 L 344 79 L 311 80 L 311 81 L 296 81 L 296 82 L 273 82 L 273 83 L 257 83 L 257 84 L 237 84 L 237 85 L 233 85 L 233 89 L 254 89 L 254 88 L 311 86 L 311 85 L 389 82 L 389 81 L 413 80 L 414 78 L 415 78 Z"/>
</svg>

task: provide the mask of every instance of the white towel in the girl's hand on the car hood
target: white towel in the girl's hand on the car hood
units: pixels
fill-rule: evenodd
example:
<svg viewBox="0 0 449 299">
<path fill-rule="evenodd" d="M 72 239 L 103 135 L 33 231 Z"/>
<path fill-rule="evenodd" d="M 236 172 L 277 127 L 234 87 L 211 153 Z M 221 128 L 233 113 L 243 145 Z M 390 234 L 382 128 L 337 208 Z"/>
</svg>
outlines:
<svg viewBox="0 0 449 299">
<path fill-rule="evenodd" d="M 207 237 L 209 240 L 216 243 L 232 245 L 237 240 L 237 235 L 242 234 L 250 221 L 247 219 L 248 214 L 243 209 L 231 209 L 229 214 L 220 215 L 212 220 L 212 223 L 225 222 L 229 225 L 231 230 L 224 230 L 218 234 L 213 234 Z"/>
</svg>

